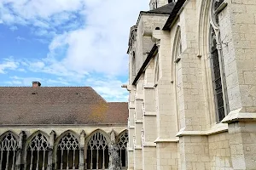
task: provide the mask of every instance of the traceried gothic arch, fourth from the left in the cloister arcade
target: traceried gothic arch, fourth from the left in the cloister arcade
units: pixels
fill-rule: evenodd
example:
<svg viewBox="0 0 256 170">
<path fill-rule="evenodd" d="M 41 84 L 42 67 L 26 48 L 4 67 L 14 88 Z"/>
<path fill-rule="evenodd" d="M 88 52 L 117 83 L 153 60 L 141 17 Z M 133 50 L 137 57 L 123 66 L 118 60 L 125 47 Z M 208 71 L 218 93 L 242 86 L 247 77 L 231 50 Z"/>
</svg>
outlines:
<svg viewBox="0 0 256 170">
<path fill-rule="evenodd" d="M 102 133 L 96 132 L 87 144 L 87 169 L 105 169 L 108 163 L 108 140 Z"/>
</svg>

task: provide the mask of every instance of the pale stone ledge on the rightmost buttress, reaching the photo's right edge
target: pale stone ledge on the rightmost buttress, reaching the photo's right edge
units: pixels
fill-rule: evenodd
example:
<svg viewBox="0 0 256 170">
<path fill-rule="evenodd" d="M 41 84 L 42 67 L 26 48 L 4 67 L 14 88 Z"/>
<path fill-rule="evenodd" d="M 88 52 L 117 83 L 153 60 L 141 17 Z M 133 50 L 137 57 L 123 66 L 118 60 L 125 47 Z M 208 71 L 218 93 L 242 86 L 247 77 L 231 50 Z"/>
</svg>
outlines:
<svg viewBox="0 0 256 170">
<path fill-rule="evenodd" d="M 244 113 L 240 112 L 240 109 L 235 111 L 230 111 L 229 115 L 225 116 L 222 122 L 224 123 L 232 123 L 232 122 L 239 122 L 239 121 L 256 121 L 256 113 Z"/>
</svg>

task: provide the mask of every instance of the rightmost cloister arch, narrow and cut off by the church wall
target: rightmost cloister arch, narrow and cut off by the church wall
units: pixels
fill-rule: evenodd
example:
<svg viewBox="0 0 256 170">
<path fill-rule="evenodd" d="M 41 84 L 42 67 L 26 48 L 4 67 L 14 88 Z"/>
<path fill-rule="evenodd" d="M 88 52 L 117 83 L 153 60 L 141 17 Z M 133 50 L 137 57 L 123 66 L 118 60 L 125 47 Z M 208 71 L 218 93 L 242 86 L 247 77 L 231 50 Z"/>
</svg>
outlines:
<svg viewBox="0 0 256 170">
<path fill-rule="evenodd" d="M 119 157 L 121 161 L 120 162 L 121 167 L 128 166 L 127 143 L 128 143 L 128 132 L 126 130 L 124 133 L 121 133 L 118 138 Z"/>
</svg>

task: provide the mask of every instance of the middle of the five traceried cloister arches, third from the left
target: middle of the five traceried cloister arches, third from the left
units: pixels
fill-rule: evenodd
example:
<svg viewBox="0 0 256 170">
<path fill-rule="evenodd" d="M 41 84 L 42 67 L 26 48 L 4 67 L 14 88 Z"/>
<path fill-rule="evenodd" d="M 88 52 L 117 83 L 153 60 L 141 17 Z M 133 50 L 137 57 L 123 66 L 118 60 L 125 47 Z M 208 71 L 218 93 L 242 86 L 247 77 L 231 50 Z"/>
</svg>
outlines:
<svg viewBox="0 0 256 170">
<path fill-rule="evenodd" d="M 57 169 L 79 169 L 79 139 L 66 133 L 57 146 Z"/>
</svg>

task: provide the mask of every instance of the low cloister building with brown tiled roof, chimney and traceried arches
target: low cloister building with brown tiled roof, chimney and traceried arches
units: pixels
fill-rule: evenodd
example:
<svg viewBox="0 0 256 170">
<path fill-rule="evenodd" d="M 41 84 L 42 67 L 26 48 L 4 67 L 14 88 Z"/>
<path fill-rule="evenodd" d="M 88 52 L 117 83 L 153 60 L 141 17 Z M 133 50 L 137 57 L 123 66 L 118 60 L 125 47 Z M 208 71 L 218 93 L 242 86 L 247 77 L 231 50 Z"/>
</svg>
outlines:
<svg viewBox="0 0 256 170">
<path fill-rule="evenodd" d="M 128 106 L 90 87 L 0 88 L 0 170 L 127 169 Z"/>
</svg>

